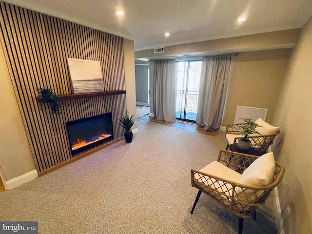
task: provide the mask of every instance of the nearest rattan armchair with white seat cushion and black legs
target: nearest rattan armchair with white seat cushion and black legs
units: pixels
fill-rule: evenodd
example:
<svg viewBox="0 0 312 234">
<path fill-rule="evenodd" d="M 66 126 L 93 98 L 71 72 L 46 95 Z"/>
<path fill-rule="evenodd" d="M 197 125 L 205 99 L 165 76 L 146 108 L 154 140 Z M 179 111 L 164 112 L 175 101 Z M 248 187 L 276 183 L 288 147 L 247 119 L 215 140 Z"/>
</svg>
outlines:
<svg viewBox="0 0 312 234">
<path fill-rule="evenodd" d="M 273 153 L 267 155 L 269 154 L 273 156 Z M 264 159 L 262 157 L 265 156 L 261 156 L 261 160 Z M 284 175 L 283 166 L 276 162 L 273 156 L 273 159 L 271 159 L 272 182 L 268 182 L 265 186 L 239 183 L 241 181 L 239 179 L 244 176 L 242 174 L 245 169 L 257 158 L 259 157 L 220 150 L 217 161 L 208 164 L 201 170 L 191 169 L 192 186 L 199 190 L 191 214 L 194 212 L 201 193 L 204 192 L 239 217 L 238 233 L 242 234 L 244 218 L 254 216 L 255 220 L 256 208 L 265 202 L 270 192 L 279 184 Z M 251 166 L 252 173 L 261 175 L 263 171 L 261 171 L 259 165 L 254 163 L 254 166 L 259 168 L 256 169 L 259 171 L 255 172 L 256 170 Z M 230 171 L 231 175 L 229 175 L 228 171 Z"/>
</svg>

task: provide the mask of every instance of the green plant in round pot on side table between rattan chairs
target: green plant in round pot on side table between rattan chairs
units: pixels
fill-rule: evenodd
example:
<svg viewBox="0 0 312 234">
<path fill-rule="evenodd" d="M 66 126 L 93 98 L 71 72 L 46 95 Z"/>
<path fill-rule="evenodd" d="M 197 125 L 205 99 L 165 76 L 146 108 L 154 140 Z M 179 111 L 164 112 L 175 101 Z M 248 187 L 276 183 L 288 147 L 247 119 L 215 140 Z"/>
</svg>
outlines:
<svg viewBox="0 0 312 234">
<path fill-rule="evenodd" d="M 248 139 L 249 135 L 251 134 L 259 134 L 255 129 L 256 127 L 262 127 L 259 124 L 256 124 L 252 121 L 252 118 L 239 118 L 245 121 L 245 124 L 240 125 L 242 131 L 237 133 L 238 135 L 244 135 L 243 138 L 238 139 L 237 147 L 240 150 L 248 150 L 250 148 L 251 141 Z"/>
</svg>

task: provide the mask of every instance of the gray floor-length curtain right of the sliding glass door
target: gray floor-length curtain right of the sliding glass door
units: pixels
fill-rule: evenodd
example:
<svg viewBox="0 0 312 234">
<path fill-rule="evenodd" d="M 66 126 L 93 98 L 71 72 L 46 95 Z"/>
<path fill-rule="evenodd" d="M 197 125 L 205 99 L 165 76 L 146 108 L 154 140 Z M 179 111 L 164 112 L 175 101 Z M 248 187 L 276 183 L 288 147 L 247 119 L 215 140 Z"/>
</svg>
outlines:
<svg viewBox="0 0 312 234">
<path fill-rule="evenodd" d="M 231 66 L 231 55 L 203 57 L 196 125 L 205 131 L 219 130 Z"/>
</svg>

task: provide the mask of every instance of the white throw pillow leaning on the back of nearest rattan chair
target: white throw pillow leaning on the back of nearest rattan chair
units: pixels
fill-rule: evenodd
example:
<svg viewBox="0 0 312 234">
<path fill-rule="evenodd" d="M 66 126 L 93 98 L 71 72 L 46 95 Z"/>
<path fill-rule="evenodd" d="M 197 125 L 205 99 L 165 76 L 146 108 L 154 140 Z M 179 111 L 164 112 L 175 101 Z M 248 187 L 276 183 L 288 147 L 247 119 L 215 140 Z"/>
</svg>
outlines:
<svg viewBox="0 0 312 234">
<path fill-rule="evenodd" d="M 248 186 L 265 186 L 273 182 L 275 175 L 275 159 L 273 153 L 267 153 L 258 157 L 242 174 L 239 182 L 240 184 Z M 254 194 L 254 190 L 248 189 L 243 191 L 241 187 L 235 187 L 240 200 L 247 200 L 248 202 L 254 202 L 262 195 L 263 191 L 257 191 Z"/>
</svg>

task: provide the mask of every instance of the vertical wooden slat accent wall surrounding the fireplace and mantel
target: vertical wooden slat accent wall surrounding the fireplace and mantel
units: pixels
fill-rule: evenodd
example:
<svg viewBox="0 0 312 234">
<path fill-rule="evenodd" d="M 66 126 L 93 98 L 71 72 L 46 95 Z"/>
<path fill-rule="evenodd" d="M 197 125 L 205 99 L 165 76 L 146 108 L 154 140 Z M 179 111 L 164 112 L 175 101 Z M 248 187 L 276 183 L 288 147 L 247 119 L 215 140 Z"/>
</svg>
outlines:
<svg viewBox="0 0 312 234">
<path fill-rule="evenodd" d="M 114 139 L 123 136 L 117 119 L 126 114 L 125 94 L 62 101 L 59 116 L 50 114 L 48 104 L 36 102 L 37 87 L 52 88 L 57 95 L 73 94 L 67 57 L 100 61 L 104 90 L 125 90 L 121 37 L 4 2 L 0 2 L 0 30 L 38 172 L 73 157 L 68 121 L 112 112 Z"/>
</svg>

